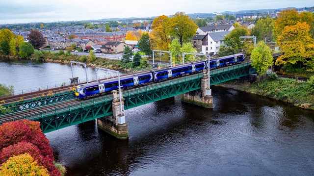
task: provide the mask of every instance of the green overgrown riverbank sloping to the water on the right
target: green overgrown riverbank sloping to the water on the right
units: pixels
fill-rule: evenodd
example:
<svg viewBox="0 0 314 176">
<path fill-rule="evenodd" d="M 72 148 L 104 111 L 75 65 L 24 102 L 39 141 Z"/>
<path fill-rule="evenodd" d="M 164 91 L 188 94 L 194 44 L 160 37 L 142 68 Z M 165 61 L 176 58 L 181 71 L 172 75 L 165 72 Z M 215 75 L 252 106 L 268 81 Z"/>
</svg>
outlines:
<svg viewBox="0 0 314 176">
<path fill-rule="evenodd" d="M 314 76 L 307 82 L 290 78 L 267 78 L 253 83 L 233 80 L 218 86 L 257 94 L 289 102 L 303 109 L 314 110 Z"/>
</svg>

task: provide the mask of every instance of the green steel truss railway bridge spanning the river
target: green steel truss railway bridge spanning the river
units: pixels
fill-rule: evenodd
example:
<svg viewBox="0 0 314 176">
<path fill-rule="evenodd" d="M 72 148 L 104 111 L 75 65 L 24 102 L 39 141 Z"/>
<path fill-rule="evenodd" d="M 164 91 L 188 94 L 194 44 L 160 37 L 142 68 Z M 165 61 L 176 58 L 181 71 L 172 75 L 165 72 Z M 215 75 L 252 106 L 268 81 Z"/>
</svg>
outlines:
<svg viewBox="0 0 314 176">
<path fill-rule="evenodd" d="M 251 62 L 211 70 L 210 85 L 255 73 L 256 70 L 252 68 Z M 131 90 L 124 90 L 124 108 L 131 109 L 201 89 L 201 78 L 203 76 L 203 73 L 187 75 Z M 67 93 L 64 96 L 58 95 L 50 99 L 26 101 L 13 107 L 1 109 L 0 124 L 12 120 L 29 119 L 39 121 L 42 131 L 47 133 L 112 115 L 112 100 L 113 95 L 109 94 L 90 100 L 78 101 L 74 93 Z M 55 106 L 56 104 L 58 106 Z"/>
</svg>

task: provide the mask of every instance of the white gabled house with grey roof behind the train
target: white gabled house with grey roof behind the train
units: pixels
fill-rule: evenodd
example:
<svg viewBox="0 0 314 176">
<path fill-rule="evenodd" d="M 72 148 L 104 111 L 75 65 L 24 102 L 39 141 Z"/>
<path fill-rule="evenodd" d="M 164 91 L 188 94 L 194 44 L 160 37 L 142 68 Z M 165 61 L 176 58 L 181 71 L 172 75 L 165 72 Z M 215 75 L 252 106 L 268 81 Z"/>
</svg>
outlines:
<svg viewBox="0 0 314 176">
<path fill-rule="evenodd" d="M 230 31 L 224 31 L 224 32 L 209 32 L 208 33 L 208 40 L 205 37 L 205 45 L 202 46 L 202 52 L 203 54 L 210 54 L 215 55 L 218 54 L 219 48 L 221 45 L 223 45 L 223 40 L 227 34 L 229 34 Z"/>
</svg>

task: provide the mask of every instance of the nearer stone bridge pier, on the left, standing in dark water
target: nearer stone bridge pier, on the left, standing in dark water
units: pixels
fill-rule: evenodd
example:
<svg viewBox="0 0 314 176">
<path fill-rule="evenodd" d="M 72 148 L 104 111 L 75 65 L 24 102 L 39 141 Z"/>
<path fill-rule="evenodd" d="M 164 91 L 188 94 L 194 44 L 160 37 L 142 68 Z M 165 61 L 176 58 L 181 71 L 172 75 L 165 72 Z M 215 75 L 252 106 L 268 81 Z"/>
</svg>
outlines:
<svg viewBox="0 0 314 176">
<path fill-rule="evenodd" d="M 105 116 L 97 119 L 97 126 L 104 130 L 105 132 L 111 134 L 118 139 L 128 139 L 129 131 L 128 124 L 126 123 L 125 113 L 124 113 L 124 99 L 122 98 L 122 112 L 120 108 L 120 97 L 119 91 L 114 90 L 113 101 L 112 101 L 112 116 Z M 122 90 L 121 90 L 122 94 Z"/>
</svg>

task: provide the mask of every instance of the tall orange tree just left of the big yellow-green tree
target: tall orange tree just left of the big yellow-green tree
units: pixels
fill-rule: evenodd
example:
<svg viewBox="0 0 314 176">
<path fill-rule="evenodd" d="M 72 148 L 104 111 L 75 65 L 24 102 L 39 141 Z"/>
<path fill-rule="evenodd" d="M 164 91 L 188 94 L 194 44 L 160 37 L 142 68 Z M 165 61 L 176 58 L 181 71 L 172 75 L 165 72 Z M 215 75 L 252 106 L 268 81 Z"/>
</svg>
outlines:
<svg viewBox="0 0 314 176">
<path fill-rule="evenodd" d="M 171 42 L 170 34 L 167 30 L 167 22 L 169 18 L 165 15 L 154 19 L 152 23 L 151 46 L 153 50 L 169 50 L 168 46 Z"/>
</svg>

